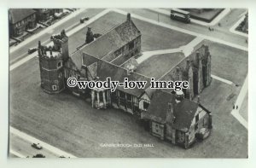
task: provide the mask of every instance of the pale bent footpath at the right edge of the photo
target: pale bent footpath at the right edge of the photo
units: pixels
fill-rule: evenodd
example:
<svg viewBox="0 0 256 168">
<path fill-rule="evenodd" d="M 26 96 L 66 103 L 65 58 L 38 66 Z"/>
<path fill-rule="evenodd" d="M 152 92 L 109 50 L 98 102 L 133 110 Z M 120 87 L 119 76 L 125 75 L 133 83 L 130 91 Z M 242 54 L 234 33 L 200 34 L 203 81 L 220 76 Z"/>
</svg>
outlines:
<svg viewBox="0 0 256 168">
<path fill-rule="evenodd" d="M 243 119 L 243 117 L 241 117 L 241 114 L 239 113 L 241 108 L 241 103 L 245 99 L 245 96 L 247 95 L 247 90 L 248 90 L 248 75 L 247 75 L 247 78 L 245 79 L 245 82 L 242 84 L 240 93 L 236 99 L 235 109 L 231 111 L 231 114 L 241 123 L 241 125 L 243 125 L 248 130 L 247 120 Z M 236 109 L 236 106 L 238 107 L 237 109 Z"/>
</svg>

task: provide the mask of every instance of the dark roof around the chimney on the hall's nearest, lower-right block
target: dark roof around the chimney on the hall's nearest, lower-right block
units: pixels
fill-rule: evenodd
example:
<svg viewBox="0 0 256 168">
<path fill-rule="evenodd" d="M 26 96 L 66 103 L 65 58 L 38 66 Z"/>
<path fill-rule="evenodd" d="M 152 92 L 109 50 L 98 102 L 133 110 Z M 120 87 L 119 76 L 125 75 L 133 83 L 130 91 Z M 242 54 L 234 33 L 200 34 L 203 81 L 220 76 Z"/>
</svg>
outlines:
<svg viewBox="0 0 256 168">
<path fill-rule="evenodd" d="M 148 107 L 148 112 L 143 113 L 143 119 L 152 119 L 156 122 L 166 124 L 166 113 L 168 103 L 172 103 L 173 115 L 175 117 L 173 127 L 177 130 L 189 130 L 195 112 L 199 105 L 194 101 L 183 99 L 177 103 L 175 96 L 162 90 L 155 90 Z"/>
</svg>

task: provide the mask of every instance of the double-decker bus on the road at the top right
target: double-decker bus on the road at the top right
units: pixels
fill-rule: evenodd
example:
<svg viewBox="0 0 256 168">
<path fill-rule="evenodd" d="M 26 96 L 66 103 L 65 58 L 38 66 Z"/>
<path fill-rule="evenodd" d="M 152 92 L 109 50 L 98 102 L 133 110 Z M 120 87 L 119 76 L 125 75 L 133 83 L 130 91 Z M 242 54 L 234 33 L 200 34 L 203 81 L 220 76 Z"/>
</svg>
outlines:
<svg viewBox="0 0 256 168">
<path fill-rule="evenodd" d="M 171 9 L 171 19 L 190 23 L 190 13 L 181 9 Z"/>
</svg>

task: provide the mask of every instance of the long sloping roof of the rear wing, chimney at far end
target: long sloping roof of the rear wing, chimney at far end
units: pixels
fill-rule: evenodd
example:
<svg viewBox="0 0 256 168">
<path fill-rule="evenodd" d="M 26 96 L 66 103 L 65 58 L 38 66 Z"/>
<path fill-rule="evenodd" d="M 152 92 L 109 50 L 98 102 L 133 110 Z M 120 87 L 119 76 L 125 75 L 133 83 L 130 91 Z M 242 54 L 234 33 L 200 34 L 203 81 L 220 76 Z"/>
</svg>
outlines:
<svg viewBox="0 0 256 168">
<path fill-rule="evenodd" d="M 113 27 L 112 30 L 106 32 L 101 37 L 96 38 L 93 42 L 85 45 L 80 50 L 88 55 L 102 58 L 140 35 L 141 32 L 137 29 L 133 21 L 126 20 L 119 26 Z"/>
</svg>

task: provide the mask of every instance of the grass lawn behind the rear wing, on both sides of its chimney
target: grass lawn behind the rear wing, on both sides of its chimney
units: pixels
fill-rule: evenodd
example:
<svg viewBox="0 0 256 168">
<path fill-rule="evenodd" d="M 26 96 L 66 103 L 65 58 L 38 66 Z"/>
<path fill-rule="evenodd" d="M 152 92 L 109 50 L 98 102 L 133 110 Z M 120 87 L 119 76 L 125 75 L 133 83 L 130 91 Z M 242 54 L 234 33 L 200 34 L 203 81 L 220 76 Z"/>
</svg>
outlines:
<svg viewBox="0 0 256 168">
<path fill-rule="evenodd" d="M 131 14 L 132 17 L 132 14 Z M 89 25 L 94 33 L 108 32 L 114 26 L 126 20 L 126 15 L 109 12 Z M 173 49 L 187 44 L 195 37 L 183 32 L 177 32 L 162 26 L 156 26 L 143 20 L 132 19 L 137 28 L 142 32 L 142 50 Z M 84 43 L 87 27 L 74 33 L 69 38 L 69 50 L 73 51 Z"/>
</svg>

